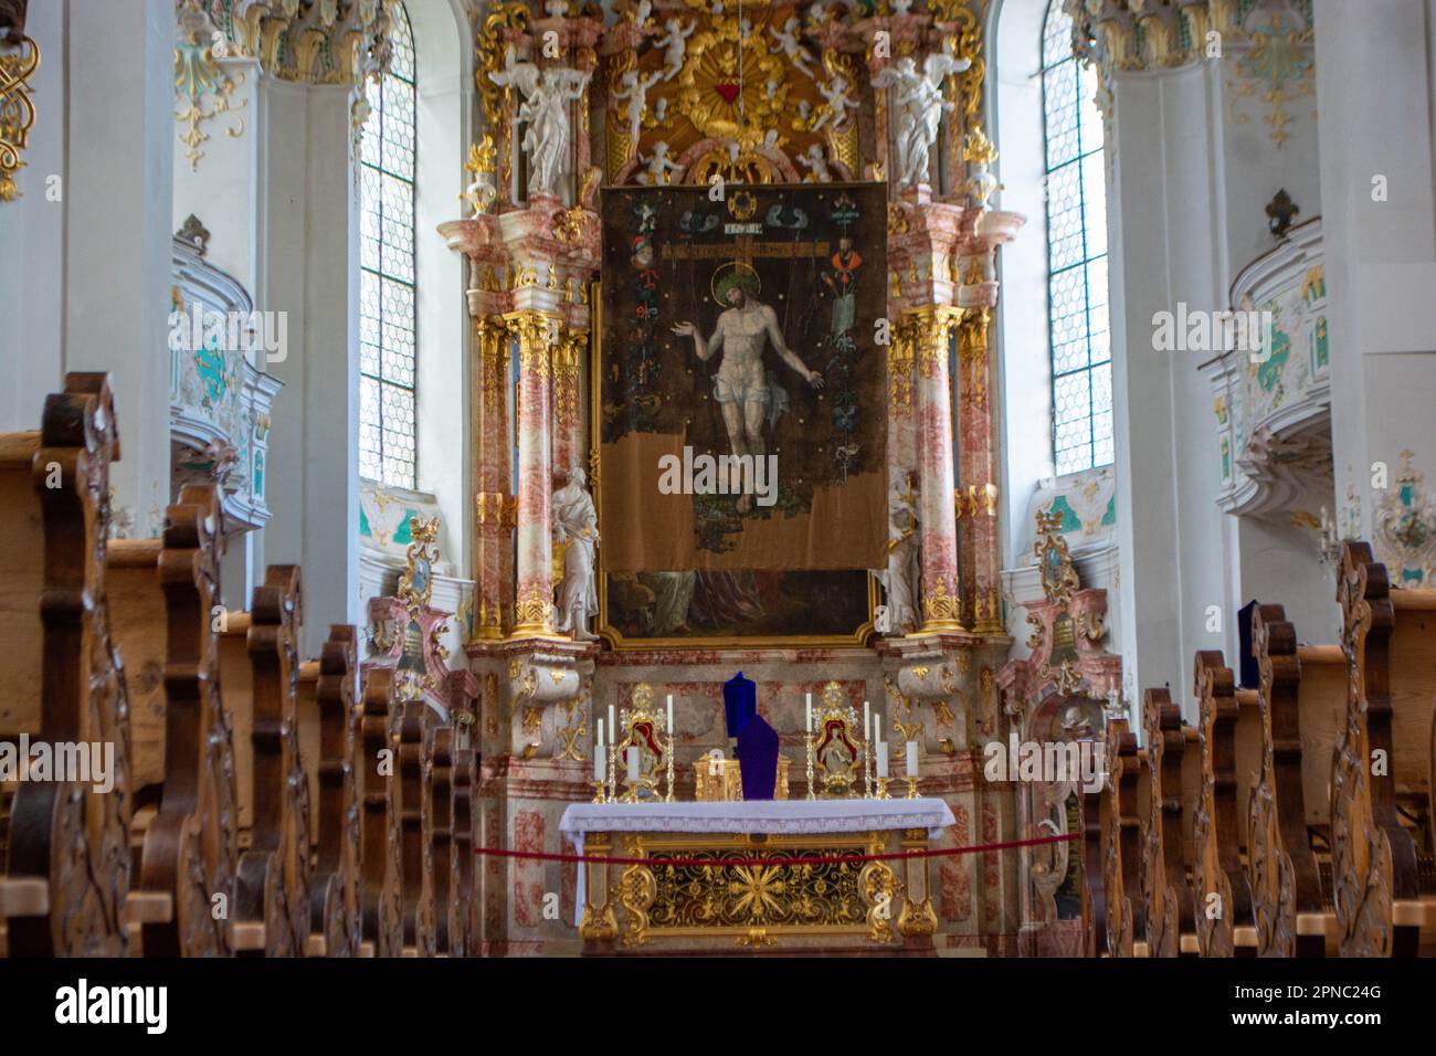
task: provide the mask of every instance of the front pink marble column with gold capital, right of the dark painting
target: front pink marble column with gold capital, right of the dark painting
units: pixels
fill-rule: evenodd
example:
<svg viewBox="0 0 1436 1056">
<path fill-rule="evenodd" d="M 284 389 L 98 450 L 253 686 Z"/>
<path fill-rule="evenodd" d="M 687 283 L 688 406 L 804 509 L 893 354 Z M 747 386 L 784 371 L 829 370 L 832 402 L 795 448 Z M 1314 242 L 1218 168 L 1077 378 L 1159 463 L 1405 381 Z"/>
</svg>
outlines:
<svg viewBox="0 0 1436 1056">
<path fill-rule="evenodd" d="M 918 361 L 918 476 L 922 481 L 922 632 L 961 631 L 958 526 L 952 506 L 952 379 L 948 343 L 961 309 L 929 306 L 903 318 Z"/>
</svg>

